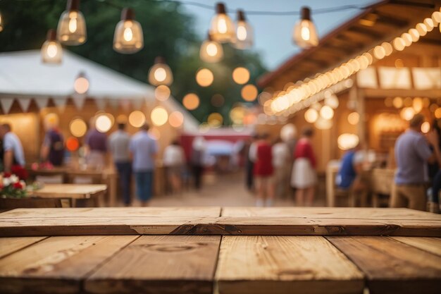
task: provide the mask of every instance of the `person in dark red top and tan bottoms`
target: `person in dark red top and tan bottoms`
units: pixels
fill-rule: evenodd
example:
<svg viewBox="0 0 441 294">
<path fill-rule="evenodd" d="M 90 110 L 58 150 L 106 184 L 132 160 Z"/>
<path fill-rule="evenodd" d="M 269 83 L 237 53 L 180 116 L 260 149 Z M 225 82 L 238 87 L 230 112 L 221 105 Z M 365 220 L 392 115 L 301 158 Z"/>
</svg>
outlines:
<svg viewBox="0 0 441 294">
<path fill-rule="evenodd" d="M 256 142 L 256 152 L 252 150 L 254 177 L 256 182 L 256 207 L 271 207 L 274 201 L 273 153 L 269 135 L 263 134 Z"/>
</svg>

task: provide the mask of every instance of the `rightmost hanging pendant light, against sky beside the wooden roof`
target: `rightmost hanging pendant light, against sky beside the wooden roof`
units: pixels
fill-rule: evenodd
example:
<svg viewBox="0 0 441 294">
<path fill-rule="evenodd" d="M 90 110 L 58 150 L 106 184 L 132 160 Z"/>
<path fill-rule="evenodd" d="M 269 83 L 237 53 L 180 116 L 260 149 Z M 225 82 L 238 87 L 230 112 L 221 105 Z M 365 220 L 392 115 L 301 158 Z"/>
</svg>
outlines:
<svg viewBox="0 0 441 294">
<path fill-rule="evenodd" d="M 318 45 L 316 26 L 311 21 L 311 9 L 302 7 L 302 18 L 294 26 L 294 42 L 301 48 Z"/>
</svg>

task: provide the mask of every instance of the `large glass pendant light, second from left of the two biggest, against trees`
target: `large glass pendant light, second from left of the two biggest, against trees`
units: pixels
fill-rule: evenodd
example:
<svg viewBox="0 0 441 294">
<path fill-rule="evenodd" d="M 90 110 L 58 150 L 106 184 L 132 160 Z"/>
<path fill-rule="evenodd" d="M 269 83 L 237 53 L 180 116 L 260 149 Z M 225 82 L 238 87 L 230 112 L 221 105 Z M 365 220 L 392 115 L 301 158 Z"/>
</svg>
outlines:
<svg viewBox="0 0 441 294">
<path fill-rule="evenodd" d="M 144 47 L 142 27 L 135 20 L 135 12 L 130 8 L 124 8 L 121 20 L 115 28 L 113 36 L 113 49 L 123 54 L 133 54 Z"/>
</svg>

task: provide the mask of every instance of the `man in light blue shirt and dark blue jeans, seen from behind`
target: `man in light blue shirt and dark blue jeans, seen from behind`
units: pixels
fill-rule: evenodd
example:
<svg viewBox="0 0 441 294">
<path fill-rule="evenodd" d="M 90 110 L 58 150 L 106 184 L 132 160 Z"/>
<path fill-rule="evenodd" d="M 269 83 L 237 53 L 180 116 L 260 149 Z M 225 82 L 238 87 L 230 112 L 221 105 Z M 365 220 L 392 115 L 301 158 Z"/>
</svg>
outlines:
<svg viewBox="0 0 441 294">
<path fill-rule="evenodd" d="M 137 196 L 142 206 L 148 206 L 153 194 L 153 177 L 158 143 L 148 133 L 149 125 L 144 124 L 130 139 L 132 170 L 135 173 Z"/>
</svg>

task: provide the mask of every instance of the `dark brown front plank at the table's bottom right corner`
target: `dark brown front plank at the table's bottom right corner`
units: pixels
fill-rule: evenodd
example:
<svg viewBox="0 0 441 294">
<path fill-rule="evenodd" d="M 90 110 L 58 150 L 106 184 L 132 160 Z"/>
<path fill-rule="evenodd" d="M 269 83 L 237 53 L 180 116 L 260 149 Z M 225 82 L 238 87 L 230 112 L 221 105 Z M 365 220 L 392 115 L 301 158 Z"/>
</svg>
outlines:
<svg viewBox="0 0 441 294">
<path fill-rule="evenodd" d="M 440 293 L 440 256 L 387 237 L 326 238 L 364 271 L 371 294 Z"/>
</svg>

